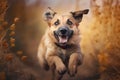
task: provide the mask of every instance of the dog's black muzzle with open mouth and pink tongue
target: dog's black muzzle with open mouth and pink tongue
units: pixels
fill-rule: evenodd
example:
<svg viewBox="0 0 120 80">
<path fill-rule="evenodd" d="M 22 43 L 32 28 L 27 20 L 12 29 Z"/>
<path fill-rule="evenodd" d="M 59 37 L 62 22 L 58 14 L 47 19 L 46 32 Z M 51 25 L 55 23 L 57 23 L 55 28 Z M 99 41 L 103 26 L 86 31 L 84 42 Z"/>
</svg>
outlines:
<svg viewBox="0 0 120 80">
<path fill-rule="evenodd" d="M 61 46 L 65 46 L 72 35 L 73 30 L 70 30 L 68 27 L 60 27 L 57 31 L 54 31 L 54 36 Z"/>
</svg>

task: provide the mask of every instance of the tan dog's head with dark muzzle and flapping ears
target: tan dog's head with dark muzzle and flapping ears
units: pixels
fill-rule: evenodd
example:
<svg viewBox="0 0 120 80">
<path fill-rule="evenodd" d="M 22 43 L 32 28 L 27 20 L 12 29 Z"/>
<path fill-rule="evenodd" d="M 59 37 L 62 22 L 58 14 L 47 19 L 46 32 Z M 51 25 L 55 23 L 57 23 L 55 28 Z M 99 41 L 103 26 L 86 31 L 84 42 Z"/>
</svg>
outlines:
<svg viewBox="0 0 120 80">
<path fill-rule="evenodd" d="M 70 43 L 70 40 L 73 41 L 74 39 L 75 41 L 75 38 L 79 37 L 79 23 L 83 14 L 87 14 L 88 11 L 88 9 L 85 9 L 68 14 L 58 14 L 51 8 L 48 8 L 44 13 L 44 18 L 50 27 L 49 34 L 55 39 L 55 43 L 65 46 Z"/>
</svg>

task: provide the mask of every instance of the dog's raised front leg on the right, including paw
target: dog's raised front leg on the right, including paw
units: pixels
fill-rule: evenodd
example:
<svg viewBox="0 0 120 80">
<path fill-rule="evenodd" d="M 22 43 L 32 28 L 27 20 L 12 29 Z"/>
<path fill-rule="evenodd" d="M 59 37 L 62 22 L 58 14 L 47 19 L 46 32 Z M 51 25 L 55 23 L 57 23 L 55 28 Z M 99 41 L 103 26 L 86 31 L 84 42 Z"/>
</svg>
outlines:
<svg viewBox="0 0 120 80">
<path fill-rule="evenodd" d="M 68 73 L 69 75 L 75 76 L 77 73 L 77 67 L 82 63 L 82 55 L 81 53 L 72 53 L 69 59 L 69 65 L 68 65 Z"/>
</svg>

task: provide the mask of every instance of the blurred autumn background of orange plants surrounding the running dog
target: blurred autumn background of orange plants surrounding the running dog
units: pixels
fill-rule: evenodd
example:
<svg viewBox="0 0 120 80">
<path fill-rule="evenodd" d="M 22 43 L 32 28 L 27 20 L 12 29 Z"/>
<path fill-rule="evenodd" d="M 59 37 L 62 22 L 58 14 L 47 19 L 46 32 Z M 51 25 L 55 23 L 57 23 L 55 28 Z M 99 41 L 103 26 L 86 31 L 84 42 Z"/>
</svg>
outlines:
<svg viewBox="0 0 120 80">
<path fill-rule="evenodd" d="M 63 80 L 120 80 L 120 0 L 0 0 L 0 80 L 51 80 L 37 59 L 47 7 L 90 10 L 79 26 L 83 64 Z"/>
</svg>

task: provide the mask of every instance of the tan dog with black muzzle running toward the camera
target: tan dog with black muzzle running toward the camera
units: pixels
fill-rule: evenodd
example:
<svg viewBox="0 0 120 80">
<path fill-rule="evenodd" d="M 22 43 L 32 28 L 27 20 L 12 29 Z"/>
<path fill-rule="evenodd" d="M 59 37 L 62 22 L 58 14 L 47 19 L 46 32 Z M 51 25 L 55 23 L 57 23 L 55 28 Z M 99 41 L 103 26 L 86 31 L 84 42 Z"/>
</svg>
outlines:
<svg viewBox="0 0 120 80">
<path fill-rule="evenodd" d="M 38 48 L 38 60 L 45 70 L 51 69 L 59 74 L 57 80 L 61 80 L 65 72 L 75 76 L 78 65 L 82 64 L 78 26 L 83 15 L 88 12 L 89 10 L 85 9 L 58 14 L 49 7 L 44 13 L 48 29 Z"/>
</svg>

